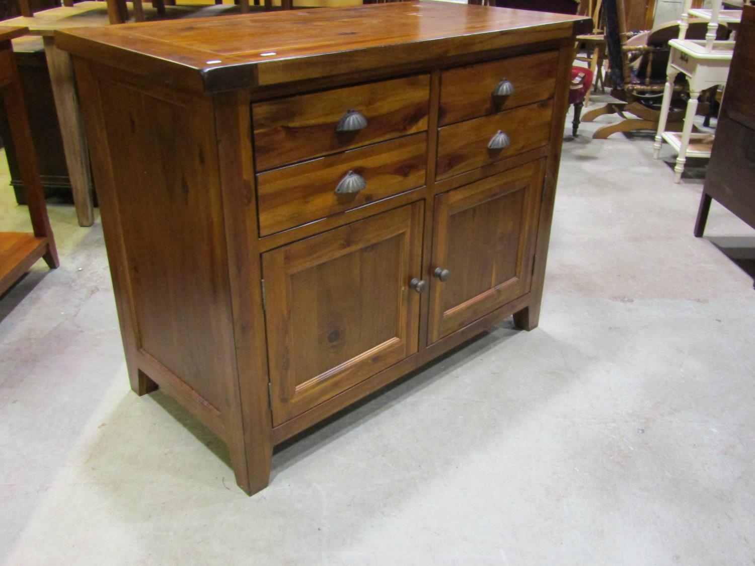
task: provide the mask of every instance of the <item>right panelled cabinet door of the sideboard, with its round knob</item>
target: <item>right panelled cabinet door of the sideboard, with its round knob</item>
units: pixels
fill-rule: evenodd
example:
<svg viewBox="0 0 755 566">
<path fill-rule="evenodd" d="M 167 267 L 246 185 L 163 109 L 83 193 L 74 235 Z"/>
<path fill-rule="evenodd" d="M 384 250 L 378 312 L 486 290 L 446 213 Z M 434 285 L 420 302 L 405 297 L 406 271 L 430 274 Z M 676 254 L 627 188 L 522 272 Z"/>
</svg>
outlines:
<svg viewBox="0 0 755 566">
<path fill-rule="evenodd" d="M 430 343 L 529 291 L 543 165 L 436 196 L 430 270 L 448 278 L 430 282 Z"/>
</svg>

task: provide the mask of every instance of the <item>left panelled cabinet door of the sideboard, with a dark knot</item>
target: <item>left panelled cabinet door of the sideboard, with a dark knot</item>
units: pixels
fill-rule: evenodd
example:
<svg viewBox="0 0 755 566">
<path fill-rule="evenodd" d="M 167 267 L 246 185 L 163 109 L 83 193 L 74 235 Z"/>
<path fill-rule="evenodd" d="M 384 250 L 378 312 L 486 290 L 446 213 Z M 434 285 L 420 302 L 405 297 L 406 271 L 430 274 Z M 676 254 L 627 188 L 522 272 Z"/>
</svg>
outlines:
<svg viewBox="0 0 755 566">
<path fill-rule="evenodd" d="M 274 426 L 417 352 L 423 208 L 263 254 Z"/>
</svg>

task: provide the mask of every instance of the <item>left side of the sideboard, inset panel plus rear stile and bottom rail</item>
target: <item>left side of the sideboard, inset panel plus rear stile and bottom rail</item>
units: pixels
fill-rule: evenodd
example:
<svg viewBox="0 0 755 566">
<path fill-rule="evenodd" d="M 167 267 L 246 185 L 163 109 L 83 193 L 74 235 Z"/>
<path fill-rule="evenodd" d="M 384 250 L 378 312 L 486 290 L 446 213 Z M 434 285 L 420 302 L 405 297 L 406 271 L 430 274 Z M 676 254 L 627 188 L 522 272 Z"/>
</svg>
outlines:
<svg viewBox="0 0 755 566">
<path fill-rule="evenodd" d="M 76 69 L 132 386 L 149 376 L 225 437 L 233 321 L 211 100 Z"/>
</svg>

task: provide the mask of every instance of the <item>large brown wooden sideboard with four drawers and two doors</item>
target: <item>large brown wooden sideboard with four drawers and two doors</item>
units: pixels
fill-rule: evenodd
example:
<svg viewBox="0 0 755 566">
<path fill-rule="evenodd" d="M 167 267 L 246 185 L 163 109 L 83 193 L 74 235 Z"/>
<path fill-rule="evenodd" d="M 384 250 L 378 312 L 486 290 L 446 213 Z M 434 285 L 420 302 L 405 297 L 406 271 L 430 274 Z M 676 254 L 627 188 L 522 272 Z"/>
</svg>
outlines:
<svg viewBox="0 0 755 566">
<path fill-rule="evenodd" d="M 581 17 L 443 2 L 57 32 L 131 386 L 273 445 L 538 324 Z"/>
</svg>

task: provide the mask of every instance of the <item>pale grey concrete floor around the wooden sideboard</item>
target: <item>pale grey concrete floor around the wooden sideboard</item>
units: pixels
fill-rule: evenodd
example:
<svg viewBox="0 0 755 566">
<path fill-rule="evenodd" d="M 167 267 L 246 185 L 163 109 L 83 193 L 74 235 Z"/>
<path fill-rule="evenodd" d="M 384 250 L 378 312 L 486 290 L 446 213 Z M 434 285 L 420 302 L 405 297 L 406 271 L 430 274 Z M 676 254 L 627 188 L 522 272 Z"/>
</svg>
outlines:
<svg viewBox="0 0 755 566">
<path fill-rule="evenodd" d="M 0 300 L 2 562 L 755 563 L 755 291 L 719 249 L 745 265 L 755 233 L 714 204 L 693 238 L 700 171 L 674 185 L 650 137 L 594 128 L 564 144 L 540 328 L 285 445 L 251 498 L 130 391 L 100 225 L 51 206 L 63 265 Z"/>
</svg>

